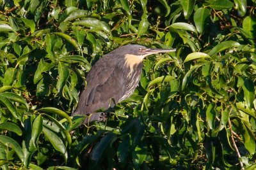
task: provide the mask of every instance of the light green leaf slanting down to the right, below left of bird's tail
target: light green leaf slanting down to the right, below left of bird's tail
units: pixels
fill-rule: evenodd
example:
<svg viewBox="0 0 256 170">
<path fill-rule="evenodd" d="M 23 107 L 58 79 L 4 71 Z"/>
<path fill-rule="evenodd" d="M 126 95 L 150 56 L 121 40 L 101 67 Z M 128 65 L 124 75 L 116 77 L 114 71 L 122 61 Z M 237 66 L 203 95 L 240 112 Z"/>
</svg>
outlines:
<svg viewBox="0 0 256 170">
<path fill-rule="evenodd" d="M 56 134 L 55 132 L 48 129 L 47 127 L 43 127 L 43 132 L 45 134 L 45 137 L 51 142 L 54 149 L 62 153 L 65 157 L 65 160 L 67 160 L 67 148 L 63 144 L 61 137 L 58 136 L 58 134 Z"/>
</svg>

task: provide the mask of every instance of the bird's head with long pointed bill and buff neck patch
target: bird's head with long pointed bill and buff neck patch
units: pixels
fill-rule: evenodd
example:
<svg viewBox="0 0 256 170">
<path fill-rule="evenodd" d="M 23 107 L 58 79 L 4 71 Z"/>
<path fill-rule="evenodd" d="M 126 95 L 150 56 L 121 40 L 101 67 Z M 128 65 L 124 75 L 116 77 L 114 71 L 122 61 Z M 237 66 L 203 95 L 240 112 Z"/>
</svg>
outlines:
<svg viewBox="0 0 256 170">
<path fill-rule="evenodd" d="M 147 48 L 141 45 L 125 45 L 114 50 L 119 57 L 124 57 L 124 62 L 132 71 L 134 66 L 143 62 L 148 55 L 155 53 L 175 52 L 176 49 Z"/>
</svg>

